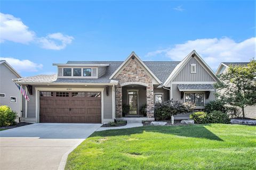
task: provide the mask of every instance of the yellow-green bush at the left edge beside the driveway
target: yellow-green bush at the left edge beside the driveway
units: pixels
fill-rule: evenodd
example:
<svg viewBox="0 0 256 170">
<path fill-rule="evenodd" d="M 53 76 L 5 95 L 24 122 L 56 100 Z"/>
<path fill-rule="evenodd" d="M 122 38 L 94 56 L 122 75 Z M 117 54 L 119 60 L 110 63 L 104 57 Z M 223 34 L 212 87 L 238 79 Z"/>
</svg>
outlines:
<svg viewBox="0 0 256 170">
<path fill-rule="evenodd" d="M 17 113 L 8 106 L 0 106 L 0 126 L 10 126 L 16 124 Z"/>
</svg>

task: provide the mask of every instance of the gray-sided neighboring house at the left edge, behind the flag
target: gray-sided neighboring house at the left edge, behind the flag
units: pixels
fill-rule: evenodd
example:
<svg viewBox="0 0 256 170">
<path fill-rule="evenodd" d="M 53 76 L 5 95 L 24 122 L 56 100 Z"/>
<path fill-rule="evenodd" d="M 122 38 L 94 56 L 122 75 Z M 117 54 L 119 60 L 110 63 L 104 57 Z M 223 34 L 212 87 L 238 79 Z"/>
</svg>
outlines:
<svg viewBox="0 0 256 170">
<path fill-rule="evenodd" d="M 0 106 L 7 105 L 21 117 L 21 93 L 13 79 L 21 78 L 20 74 L 6 61 L 0 61 Z"/>
</svg>

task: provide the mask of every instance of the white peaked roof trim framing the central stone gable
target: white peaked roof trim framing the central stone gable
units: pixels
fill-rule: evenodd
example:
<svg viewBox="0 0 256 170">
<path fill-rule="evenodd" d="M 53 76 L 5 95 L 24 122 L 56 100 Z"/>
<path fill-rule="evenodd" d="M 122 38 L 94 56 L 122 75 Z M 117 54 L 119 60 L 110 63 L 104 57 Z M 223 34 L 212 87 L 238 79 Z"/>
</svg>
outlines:
<svg viewBox="0 0 256 170">
<path fill-rule="evenodd" d="M 133 57 L 138 60 L 139 64 L 141 64 L 141 65 L 145 68 L 145 70 L 146 70 L 159 84 L 161 84 L 161 81 L 156 77 L 156 75 L 155 75 L 153 72 L 151 72 L 151 70 L 148 68 L 148 66 L 147 66 L 145 63 L 143 63 L 143 61 L 140 59 L 140 57 L 139 57 L 137 54 L 135 54 L 134 52 L 132 52 L 132 53 L 126 58 L 126 60 L 116 69 L 116 71 L 109 77 L 109 79 L 115 78 L 115 76 L 118 74 L 118 72 L 123 70 L 125 64 L 126 64 L 127 62 L 129 62 L 130 58 L 133 58 Z"/>
</svg>

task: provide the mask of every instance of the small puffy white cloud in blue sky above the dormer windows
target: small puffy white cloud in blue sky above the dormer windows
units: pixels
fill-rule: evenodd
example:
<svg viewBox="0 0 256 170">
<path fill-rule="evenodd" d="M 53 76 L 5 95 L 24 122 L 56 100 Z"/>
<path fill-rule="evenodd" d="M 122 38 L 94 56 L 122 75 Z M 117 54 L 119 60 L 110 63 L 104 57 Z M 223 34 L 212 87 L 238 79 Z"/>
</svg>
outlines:
<svg viewBox="0 0 256 170">
<path fill-rule="evenodd" d="M 52 33 L 46 37 L 38 38 L 38 43 L 42 48 L 60 50 L 72 43 L 73 37 L 63 35 L 60 32 Z"/>
</svg>

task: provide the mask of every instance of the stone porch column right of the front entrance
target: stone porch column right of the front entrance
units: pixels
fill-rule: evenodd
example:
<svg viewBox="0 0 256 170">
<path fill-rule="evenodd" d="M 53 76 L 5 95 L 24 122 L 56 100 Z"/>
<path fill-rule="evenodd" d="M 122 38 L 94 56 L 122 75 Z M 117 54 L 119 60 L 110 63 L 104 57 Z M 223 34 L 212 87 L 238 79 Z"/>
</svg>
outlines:
<svg viewBox="0 0 256 170">
<path fill-rule="evenodd" d="M 153 118 L 154 117 L 154 87 L 153 85 L 147 86 L 147 117 Z"/>
</svg>

